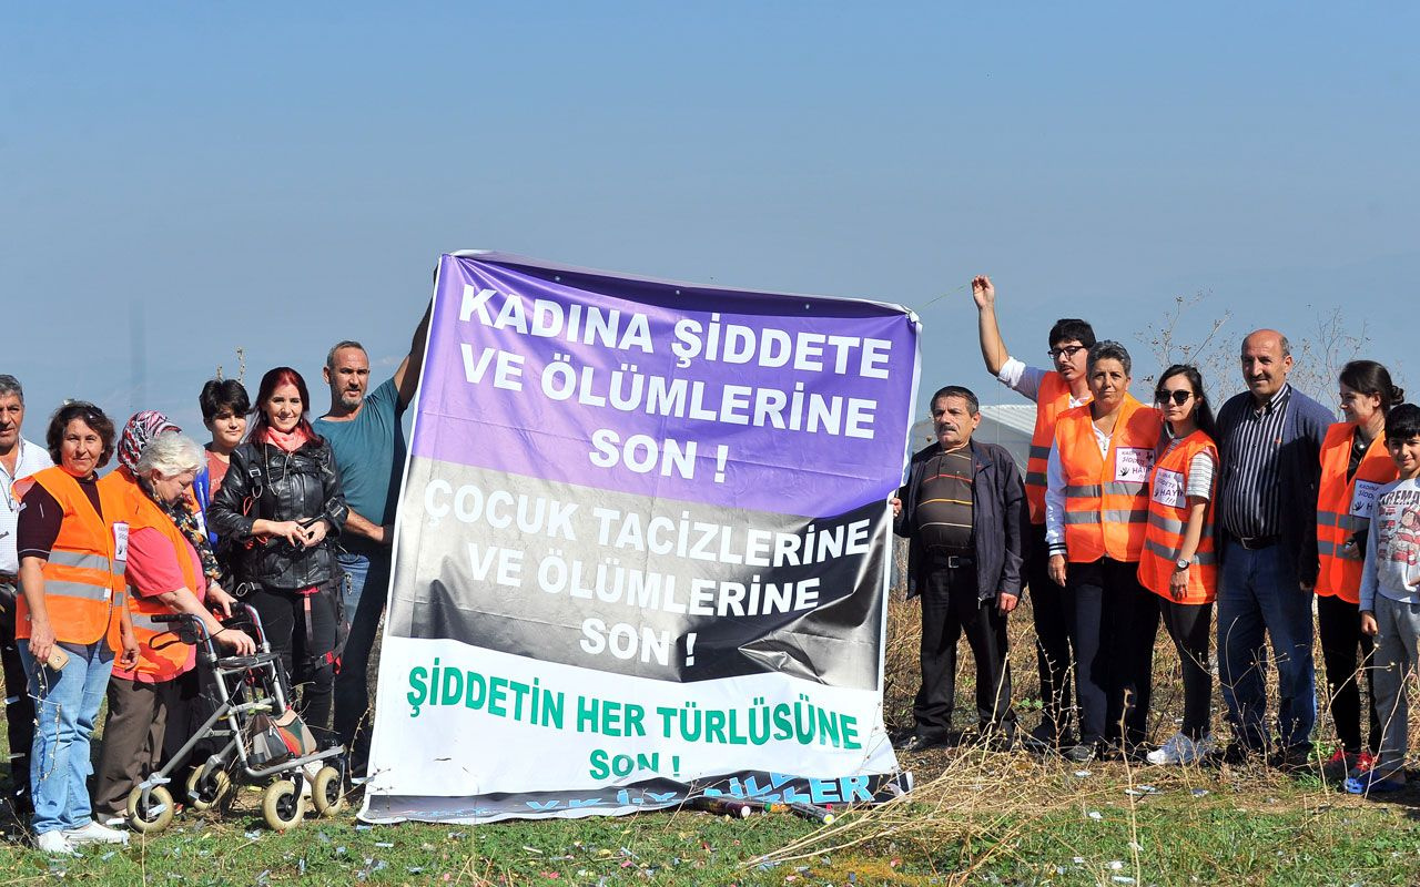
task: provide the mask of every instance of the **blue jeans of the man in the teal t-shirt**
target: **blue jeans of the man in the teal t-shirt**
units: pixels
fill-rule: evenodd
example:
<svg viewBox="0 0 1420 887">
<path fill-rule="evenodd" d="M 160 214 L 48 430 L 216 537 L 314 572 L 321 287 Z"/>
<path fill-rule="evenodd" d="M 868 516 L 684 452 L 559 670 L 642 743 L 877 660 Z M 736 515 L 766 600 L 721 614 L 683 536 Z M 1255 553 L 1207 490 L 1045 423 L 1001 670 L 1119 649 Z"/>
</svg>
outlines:
<svg viewBox="0 0 1420 887">
<path fill-rule="evenodd" d="M 335 734 L 345 744 L 355 773 L 364 773 L 369 755 L 373 714 L 366 673 L 375 630 L 385 613 L 385 599 L 389 597 L 389 561 L 388 548 L 339 555 L 341 569 L 345 571 L 345 616 L 351 620 L 351 634 L 341 657 L 341 673 L 335 677 Z"/>
</svg>

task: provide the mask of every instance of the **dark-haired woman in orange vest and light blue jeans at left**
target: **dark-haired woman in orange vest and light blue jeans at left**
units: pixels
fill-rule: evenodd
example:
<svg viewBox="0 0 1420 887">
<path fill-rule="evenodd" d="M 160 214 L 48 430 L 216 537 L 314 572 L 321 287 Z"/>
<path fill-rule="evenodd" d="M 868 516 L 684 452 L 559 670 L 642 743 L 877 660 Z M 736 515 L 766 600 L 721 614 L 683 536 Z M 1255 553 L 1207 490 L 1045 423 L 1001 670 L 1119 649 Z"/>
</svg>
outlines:
<svg viewBox="0 0 1420 887">
<path fill-rule="evenodd" d="M 36 704 L 30 754 L 36 846 L 72 854 L 85 843 L 128 843 L 128 834 L 92 817 L 87 779 L 89 737 L 104 688 L 119 664 L 138 661 L 125 606 L 128 502 L 114 474 L 98 470 L 114 454 L 114 423 L 92 403 L 74 400 L 50 419 L 55 465 L 14 485 L 23 500 L 16 548 L 20 585 L 16 636 Z"/>
</svg>

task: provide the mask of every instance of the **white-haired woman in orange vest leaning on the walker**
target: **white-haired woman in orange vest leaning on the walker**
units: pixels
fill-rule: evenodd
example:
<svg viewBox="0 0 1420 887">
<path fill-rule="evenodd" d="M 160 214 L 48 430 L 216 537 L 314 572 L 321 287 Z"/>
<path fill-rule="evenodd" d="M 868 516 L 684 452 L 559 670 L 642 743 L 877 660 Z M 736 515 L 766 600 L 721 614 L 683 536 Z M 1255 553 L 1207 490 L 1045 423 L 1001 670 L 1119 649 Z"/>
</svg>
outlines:
<svg viewBox="0 0 1420 887">
<path fill-rule="evenodd" d="M 192 519 L 192 484 L 206 461 L 202 446 L 166 416 L 143 412 L 124 429 L 119 461 L 132 512 L 125 578 L 139 659 L 132 670 L 115 668 L 108 684 L 94 806 L 99 815 L 115 817 L 125 815 L 132 788 L 158 769 L 178 678 L 196 664 L 195 649 L 178 641 L 169 632 L 172 626 L 152 617 L 189 613 L 230 653 L 256 651 L 251 637 L 224 629 L 207 609 L 217 606 L 230 615 L 231 597 L 209 588 L 199 553 L 206 536 L 200 522 Z"/>
</svg>

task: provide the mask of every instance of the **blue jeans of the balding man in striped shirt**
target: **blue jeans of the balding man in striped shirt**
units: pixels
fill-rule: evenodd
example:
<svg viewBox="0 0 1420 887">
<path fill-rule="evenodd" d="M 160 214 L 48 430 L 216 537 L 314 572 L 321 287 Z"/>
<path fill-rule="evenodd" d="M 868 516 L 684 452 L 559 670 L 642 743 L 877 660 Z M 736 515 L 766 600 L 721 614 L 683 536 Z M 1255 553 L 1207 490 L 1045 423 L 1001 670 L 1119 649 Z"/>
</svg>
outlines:
<svg viewBox="0 0 1420 887">
<path fill-rule="evenodd" d="M 1312 595 L 1304 592 L 1282 545 L 1248 551 L 1227 542 L 1218 582 L 1218 683 L 1234 737 L 1268 745 L 1267 651 L 1277 663 L 1277 722 L 1282 748 L 1305 748 L 1316 724 L 1312 674 Z"/>
</svg>

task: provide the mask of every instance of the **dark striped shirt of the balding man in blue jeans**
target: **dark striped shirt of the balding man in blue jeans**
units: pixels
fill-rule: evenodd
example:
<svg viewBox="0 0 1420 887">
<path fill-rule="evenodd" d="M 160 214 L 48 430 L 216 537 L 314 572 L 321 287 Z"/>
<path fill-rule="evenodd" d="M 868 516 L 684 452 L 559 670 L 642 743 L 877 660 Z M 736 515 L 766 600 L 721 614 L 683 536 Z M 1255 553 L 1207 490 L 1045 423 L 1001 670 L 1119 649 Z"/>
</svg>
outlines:
<svg viewBox="0 0 1420 887">
<path fill-rule="evenodd" d="M 1223 527 L 1234 536 L 1275 536 L 1282 532 L 1282 478 L 1278 453 L 1282 424 L 1292 386 L 1282 387 L 1261 407 L 1242 413 L 1242 420 L 1218 441 L 1223 484 L 1218 491 Z"/>
</svg>

